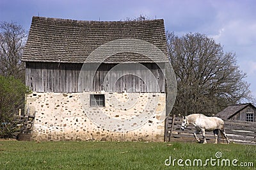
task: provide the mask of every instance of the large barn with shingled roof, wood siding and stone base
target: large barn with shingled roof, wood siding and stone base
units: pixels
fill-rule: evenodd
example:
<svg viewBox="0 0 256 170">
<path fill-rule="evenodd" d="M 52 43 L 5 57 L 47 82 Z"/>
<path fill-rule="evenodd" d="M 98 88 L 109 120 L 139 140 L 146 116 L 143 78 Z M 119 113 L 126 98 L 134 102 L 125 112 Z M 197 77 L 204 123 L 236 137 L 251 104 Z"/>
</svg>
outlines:
<svg viewBox="0 0 256 170">
<path fill-rule="evenodd" d="M 163 19 L 33 17 L 22 61 L 33 140 L 164 140 Z"/>
</svg>

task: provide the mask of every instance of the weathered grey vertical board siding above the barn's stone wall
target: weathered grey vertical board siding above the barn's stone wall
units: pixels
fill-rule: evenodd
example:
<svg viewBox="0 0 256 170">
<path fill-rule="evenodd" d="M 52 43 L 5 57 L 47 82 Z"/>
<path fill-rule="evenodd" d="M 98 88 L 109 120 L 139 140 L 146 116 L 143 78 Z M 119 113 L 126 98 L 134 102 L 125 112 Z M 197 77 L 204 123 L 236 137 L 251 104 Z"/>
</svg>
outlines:
<svg viewBox="0 0 256 170">
<path fill-rule="evenodd" d="M 93 67 L 93 63 L 90 65 Z M 128 67 L 129 70 L 122 68 L 111 72 L 109 70 L 116 64 L 101 64 L 96 72 L 90 65 L 81 72 L 83 64 L 26 62 L 26 85 L 36 92 L 164 93 L 164 73 L 155 63 L 143 63 L 147 69 L 135 66 L 132 70 Z"/>
</svg>

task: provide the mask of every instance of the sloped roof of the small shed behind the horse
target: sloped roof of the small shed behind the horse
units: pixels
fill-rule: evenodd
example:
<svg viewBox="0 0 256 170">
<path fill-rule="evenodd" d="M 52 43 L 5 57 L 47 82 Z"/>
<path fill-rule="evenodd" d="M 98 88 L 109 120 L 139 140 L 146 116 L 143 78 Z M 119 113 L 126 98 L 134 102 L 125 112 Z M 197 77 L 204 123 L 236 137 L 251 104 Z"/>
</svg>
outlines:
<svg viewBox="0 0 256 170">
<path fill-rule="evenodd" d="M 232 118 L 233 116 L 235 116 L 237 114 L 237 112 L 246 108 L 248 105 L 252 105 L 252 104 L 248 103 L 248 104 L 228 105 L 228 107 L 223 109 L 223 111 L 218 112 L 215 116 L 220 117 L 225 120 L 228 120 L 228 119 Z M 254 106 L 252 105 L 252 107 L 254 107 Z"/>
</svg>

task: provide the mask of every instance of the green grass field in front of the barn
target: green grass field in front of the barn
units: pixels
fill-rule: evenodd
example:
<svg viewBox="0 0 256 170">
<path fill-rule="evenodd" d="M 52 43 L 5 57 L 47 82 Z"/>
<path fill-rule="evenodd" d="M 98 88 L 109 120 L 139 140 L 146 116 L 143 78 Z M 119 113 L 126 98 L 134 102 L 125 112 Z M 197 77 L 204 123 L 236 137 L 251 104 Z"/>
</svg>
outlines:
<svg viewBox="0 0 256 170">
<path fill-rule="evenodd" d="M 0 169 L 181 169 L 179 159 L 187 169 L 256 169 L 255 158 L 256 146 L 243 144 L 0 141 Z"/>
</svg>

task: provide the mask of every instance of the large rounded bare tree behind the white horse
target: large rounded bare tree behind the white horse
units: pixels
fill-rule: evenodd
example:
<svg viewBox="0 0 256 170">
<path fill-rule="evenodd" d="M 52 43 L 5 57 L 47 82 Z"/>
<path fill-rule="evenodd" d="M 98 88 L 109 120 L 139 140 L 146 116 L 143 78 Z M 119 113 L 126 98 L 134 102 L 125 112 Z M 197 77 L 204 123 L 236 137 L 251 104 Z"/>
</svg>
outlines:
<svg viewBox="0 0 256 170">
<path fill-rule="evenodd" d="M 178 37 L 166 33 L 168 55 L 177 79 L 173 113 L 216 114 L 229 104 L 251 99 L 236 56 L 199 33 Z"/>
</svg>

